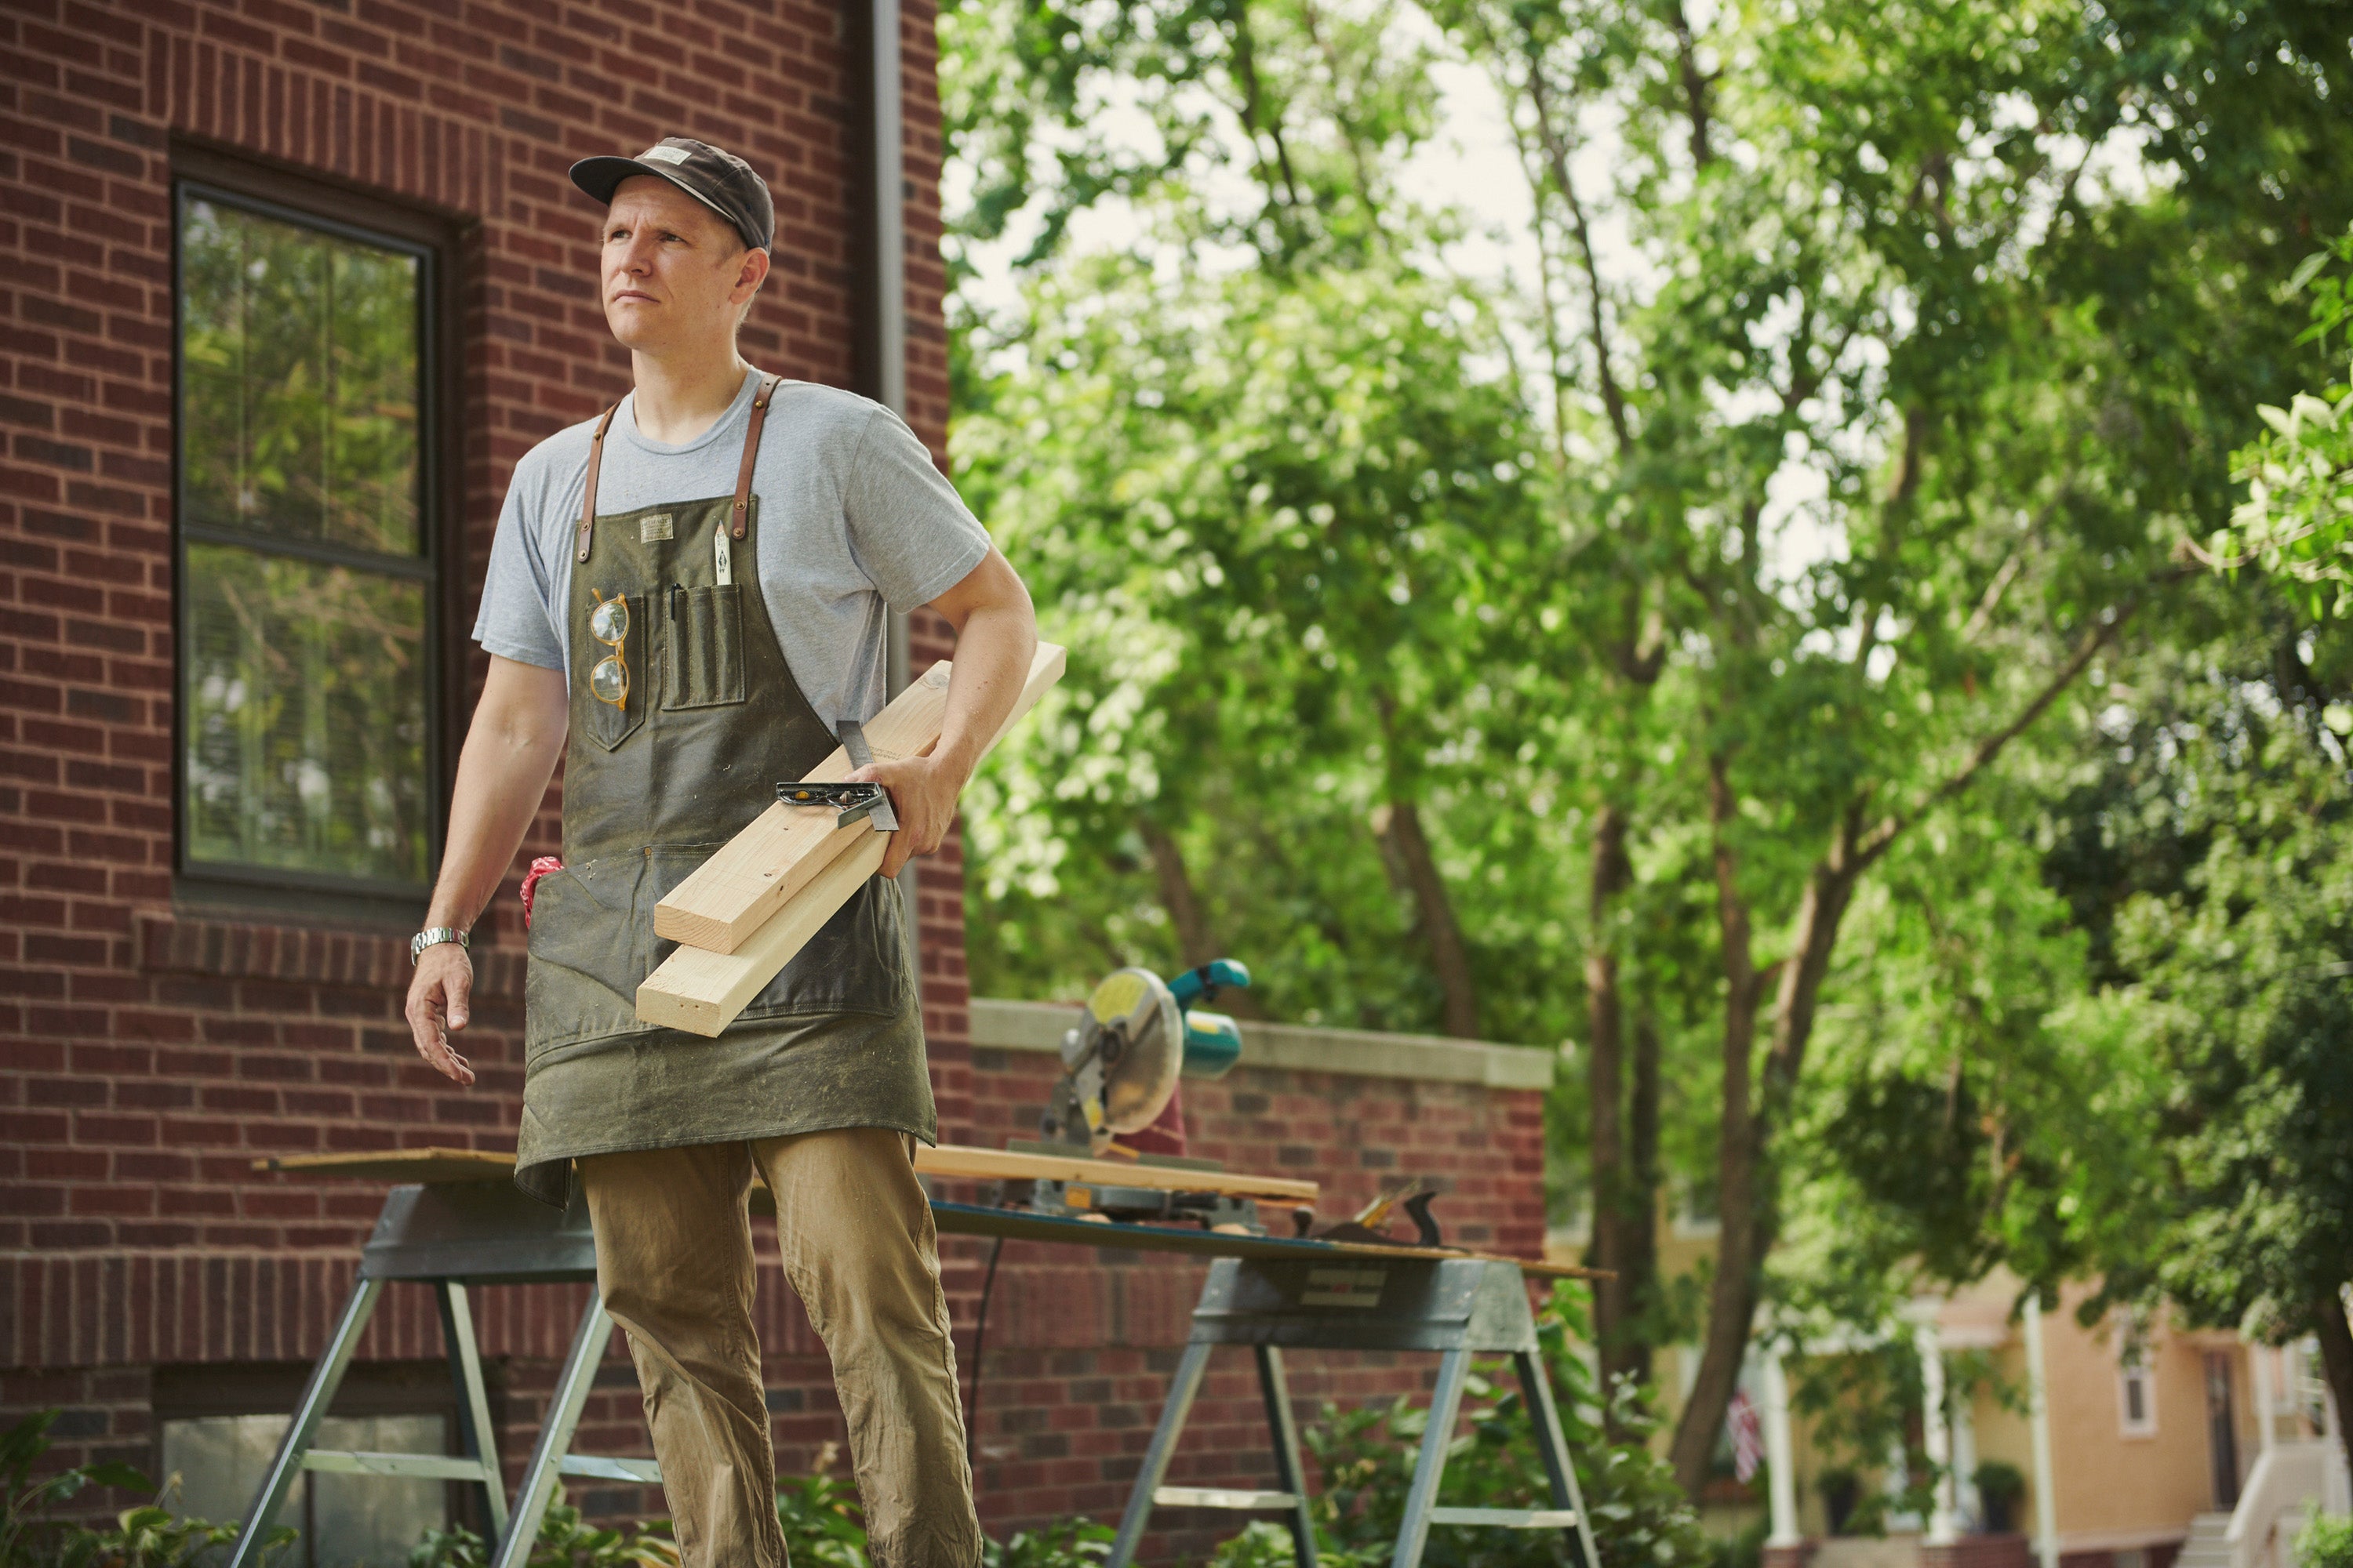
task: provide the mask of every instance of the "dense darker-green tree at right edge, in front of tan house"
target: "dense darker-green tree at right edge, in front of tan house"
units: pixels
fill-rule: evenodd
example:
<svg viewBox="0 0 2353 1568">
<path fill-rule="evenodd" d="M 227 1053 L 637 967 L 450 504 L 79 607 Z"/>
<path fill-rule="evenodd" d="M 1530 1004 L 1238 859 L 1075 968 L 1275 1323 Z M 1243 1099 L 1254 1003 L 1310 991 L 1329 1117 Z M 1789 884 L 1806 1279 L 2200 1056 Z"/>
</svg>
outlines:
<svg viewBox="0 0 2353 1568">
<path fill-rule="evenodd" d="M 2155 1070 L 2158 1168 L 2092 1208 L 2108 1302 L 2313 1333 L 2353 1401 L 2353 639 L 2254 583 L 2240 614 L 2148 656 L 2146 696 L 2054 811 L 2052 882 Z M 2191 630 L 2191 628 L 2186 628 Z"/>
</svg>

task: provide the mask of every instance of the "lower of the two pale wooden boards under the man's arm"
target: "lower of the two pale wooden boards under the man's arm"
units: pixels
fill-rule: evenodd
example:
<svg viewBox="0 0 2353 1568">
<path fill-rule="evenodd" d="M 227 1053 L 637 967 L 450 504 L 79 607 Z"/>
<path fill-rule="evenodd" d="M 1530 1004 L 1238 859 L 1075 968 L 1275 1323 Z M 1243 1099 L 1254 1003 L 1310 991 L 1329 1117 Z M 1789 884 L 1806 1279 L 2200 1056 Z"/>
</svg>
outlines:
<svg viewBox="0 0 2353 1568">
<path fill-rule="evenodd" d="M 1038 644 L 1038 656 L 1031 663 L 1028 679 L 1021 684 L 1021 696 L 1014 701 L 1012 712 L 1005 715 L 1005 724 L 1000 724 L 998 733 L 988 741 L 991 748 L 1002 741 L 1047 691 L 1054 689 L 1054 682 L 1061 679 L 1064 661 L 1064 649 L 1052 642 Z M 925 679 L 929 679 L 929 675 L 925 675 Z M 936 731 L 932 743 L 936 743 Z M 760 820 L 767 818 L 762 816 Z M 758 823 L 746 827 L 746 835 L 755 830 Z M 713 1039 L 720 1030 L 734 1023 L 746 1006 L 751 1006 L 753 997 L 767 990 L 767 983 L 793 961 L 793 954 L 798 954 L 809 938 L 816 936 L 828 919 L 833 919 L 833 912 L 849 903 L 849 896 L 856 893 L 859 886 L 882 865 L 882 851 L 889 842 L 887 835 L 873 832 L 864 823 L 849 832 L 833 832 L 828 823 L 826 832 L 833 839 L 847 839 L 847 844 L 831 858 L 831 863 L 821 865 L 805 886 L 786 896 L 776 910 L 736 945 L 734 952 L 680 947 L 664 959 L 661 966 L 645 978 L 645 983 L 638 985 L 638 1018 L 642 1023 L 659 1023 L 673 1030 L 685 1030 L 687 1034 Z M 736 835 L 736 839 L 741 837 L 744 835 Z M 762 835 L 762 842 L 772 844 L 774 835 Z M 732 849 L 734 842 L 725 844 L 718 856 L 727 856 Z M 692 882 L 692 877 L 687 882 Z M 729 872 L 727 879 L 715 879 L 711 886 L 727 891 L 729 898 L 753 896 L 753 891 L 734 872 Z M 706 917 L 718 919 L 722 912 L 725 905 L 704 903 Z M 661 929 L 659 912 L 654 929 Z"/>
</svg>

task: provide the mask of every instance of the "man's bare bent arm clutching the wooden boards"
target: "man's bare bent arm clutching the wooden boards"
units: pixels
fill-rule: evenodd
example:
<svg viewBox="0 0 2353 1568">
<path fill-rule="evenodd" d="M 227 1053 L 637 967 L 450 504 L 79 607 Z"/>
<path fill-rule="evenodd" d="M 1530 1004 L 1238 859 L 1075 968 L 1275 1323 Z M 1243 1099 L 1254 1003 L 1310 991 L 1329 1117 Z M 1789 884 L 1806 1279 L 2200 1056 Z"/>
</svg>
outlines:
<svg viewBox="0 0 2353 1568">
<path fill-rule="evenodd" d="M 885 877 L 896 877 L 911 856 L 927 856 L 948 837 L 955 799 L 1021 698 L 1038 654 L 1038 611 L 1021 574 L 995 545 L 955 588 L 932 599 L 932 609 L 955 628 L 955 675 L 948 677 L 939 745 L 929 757 L 875 762 L 852 773 L 880 780 L 899 813 L 899 832 L 882 856 Z"/>
</svg>

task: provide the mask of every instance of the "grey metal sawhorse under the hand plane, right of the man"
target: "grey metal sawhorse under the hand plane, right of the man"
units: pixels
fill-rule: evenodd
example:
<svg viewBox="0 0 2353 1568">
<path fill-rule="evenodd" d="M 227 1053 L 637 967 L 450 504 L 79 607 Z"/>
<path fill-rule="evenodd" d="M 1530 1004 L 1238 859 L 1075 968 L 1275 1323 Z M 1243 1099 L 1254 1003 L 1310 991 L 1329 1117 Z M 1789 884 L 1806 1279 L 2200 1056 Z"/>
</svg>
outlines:
<svg viewBox="0 0 2353 1568">
<path fill-rule="evenodd" d="M 1280 1490 L 1224 1490 L 1162 1486 L 1176 1439 L 1209 1352 L 1219 1345 L 1249 1345 L 1259 1361 L 1259 1392 L 1266 1396 L 1266 1425 L 1275 1441 L 1275 1476 Z M 1144 1469 L 1127 1497 L 1120 1535 L 1111 1544 L 1106 1568 L 1127 1568 L 1144 1540 L 1144 1521 L 1153 1507 L 1224 1507 L 1285 1514 L 1299 1568 L 1315 1568 L 1315 1528 L 1308 1519 L 1306 1476 L 1299 1467 L 1299 1429 L 1292 1420 L 1292 1396 L 1282 1382 L 1282 1349 L 1435 1349 L 1438 1389 L 1431 1394 L 1431 1425 L 1424 1429 L 1414 1481 L 1405 1495 L 1405 1521 L 1391 1568 L 1419 1568 L 1431 1526 L 1506 1526 L 1515 1530 L 1565 1528 L 1574 1533 L 1584 1568 L 1600 1568 L 1593 1552 L 1593 1526 L 1577 1493 L 1577 1469 L 1560 1434 L 1560 1410 L 1553 1406 L 1551 1375 L 1537 1349 L 1537 1321 L 1527 1309 L 1527 1286 L 1520 1267 L 1487 1258 L 1292 1262 L 1264 1258 L 1221 1258 L 1209 1265 L 1200 1305 L 1193 1307 L 1193 1333 L 1186 1342 L 1169 1399 L 1160 1408 L 1153 1443 L 1144 1450 Z M 1520 1373 L 1529 1415 L 1537 1422 L 1537 1453 L 1551 1481 L 1548 1509 L 1464 1509 L 1438 1507 L 1438 1481 L 1447 1467 L 1447 1443 L 1461 1410 L 1471 1356 L 1506 1354 Z"/>
</svg>

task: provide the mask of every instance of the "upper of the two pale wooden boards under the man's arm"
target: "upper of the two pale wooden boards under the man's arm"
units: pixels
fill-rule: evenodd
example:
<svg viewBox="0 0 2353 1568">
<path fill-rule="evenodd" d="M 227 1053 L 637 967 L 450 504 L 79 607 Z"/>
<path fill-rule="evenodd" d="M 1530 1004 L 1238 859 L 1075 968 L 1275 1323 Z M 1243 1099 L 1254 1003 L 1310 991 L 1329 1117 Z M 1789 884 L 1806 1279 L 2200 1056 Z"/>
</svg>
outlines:
<svg viewBox="0 0 2353 1568">
<path fill-rule="evenodd" d="M 951 675 L 953 665 L 941 658 L 875 715 L 866 726 L 866 745 L 878 762 L 925 757 L 939 745 L 948 717 Z M 849 752 L 833 748 L 831 757 L 809 769 L 809 783 L 835 783 L 854 771 Z M 734 952 L 793 893 L 856 844 L 859 835 L 875 837 L 873 823 L 835 827 L 831 809 L 776 802 L 671 889 L 671 896 L 654 907 L 654 936 L 711 952 Z"/>
</svg>

